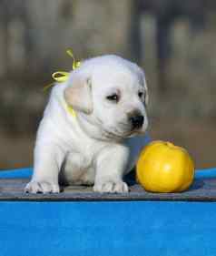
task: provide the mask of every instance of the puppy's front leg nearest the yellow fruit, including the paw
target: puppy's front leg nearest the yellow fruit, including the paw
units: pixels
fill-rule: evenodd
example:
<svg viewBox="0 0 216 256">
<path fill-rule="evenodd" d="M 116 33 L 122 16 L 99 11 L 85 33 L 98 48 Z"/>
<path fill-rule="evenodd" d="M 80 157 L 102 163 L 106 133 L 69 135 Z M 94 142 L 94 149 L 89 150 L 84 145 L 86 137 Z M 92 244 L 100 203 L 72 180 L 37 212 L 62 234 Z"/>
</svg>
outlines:
<svg viewBox="0 0 216 256">
<path fill-rule="evenodd" d="M 96 162 L 93 190 L 97 192 L 128 192 L 123 174 L 129 159 L 129 148 L 115 145 L 103 148 Z"/>
</svg>

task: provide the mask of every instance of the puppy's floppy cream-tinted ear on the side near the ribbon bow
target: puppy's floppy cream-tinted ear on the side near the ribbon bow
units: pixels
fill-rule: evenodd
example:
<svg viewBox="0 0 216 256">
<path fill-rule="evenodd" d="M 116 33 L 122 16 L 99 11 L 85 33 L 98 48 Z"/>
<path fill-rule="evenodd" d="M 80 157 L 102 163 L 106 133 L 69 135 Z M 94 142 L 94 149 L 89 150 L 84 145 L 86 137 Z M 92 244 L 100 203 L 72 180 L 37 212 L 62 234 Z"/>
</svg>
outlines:
<svg viewBox="0 0 216 256">
<path fill-rule="evenodd" d="M 64 90 L 64 98 L 74 110 L 90 114 L 93 111 L 91 78 L 74 74 L 71 84 Z"/>
</svg>

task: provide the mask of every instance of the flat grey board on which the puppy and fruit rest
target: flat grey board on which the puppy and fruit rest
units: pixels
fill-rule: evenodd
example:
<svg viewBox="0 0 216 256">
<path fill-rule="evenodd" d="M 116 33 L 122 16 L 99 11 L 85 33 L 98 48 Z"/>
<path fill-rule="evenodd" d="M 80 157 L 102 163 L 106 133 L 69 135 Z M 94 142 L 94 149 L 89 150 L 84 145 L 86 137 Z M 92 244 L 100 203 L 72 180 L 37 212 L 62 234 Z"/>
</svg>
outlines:
<svg viewBox="0 0 216 256">
<path fill-rule="evenodd" d="M 216 201 L 216 179 L 197 179 L 191 189 L 182 193 L 149 193 L 131 179 L 130 192 L 123 194 L 95 193 L 92 187 L 69 186 L 59 194 L 25 194 L 28 179 L 0 179 L 0 200 L 34 201 L 97 201 L 97 200 L 183 200 Z"/>
</svg>

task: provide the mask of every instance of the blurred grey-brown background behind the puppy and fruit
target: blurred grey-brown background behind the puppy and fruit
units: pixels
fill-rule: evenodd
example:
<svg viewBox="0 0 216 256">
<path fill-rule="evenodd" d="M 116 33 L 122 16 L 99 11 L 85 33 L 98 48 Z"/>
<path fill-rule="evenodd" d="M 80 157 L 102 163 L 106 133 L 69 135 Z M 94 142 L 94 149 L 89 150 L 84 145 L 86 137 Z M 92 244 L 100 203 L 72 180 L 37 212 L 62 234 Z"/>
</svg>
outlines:
<svg viewBox="0 0 216 256">
<path fill-rule="evenodd" d="M 214 0 L 0 0 L 0 169 L 32 166 L 56 70 L 117 54 L 144 68 L 150 134 L 216 166 Z"/>
</svg>

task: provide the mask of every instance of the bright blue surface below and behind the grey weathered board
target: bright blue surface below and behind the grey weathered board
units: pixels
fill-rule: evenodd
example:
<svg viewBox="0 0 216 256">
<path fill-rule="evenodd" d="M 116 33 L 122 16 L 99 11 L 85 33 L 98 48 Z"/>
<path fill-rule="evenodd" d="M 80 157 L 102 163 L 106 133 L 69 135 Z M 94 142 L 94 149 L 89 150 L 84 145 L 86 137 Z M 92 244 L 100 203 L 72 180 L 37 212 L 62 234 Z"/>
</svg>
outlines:
<svg viewBox="0 0 216 256">
<path fill-rule="evenodd" d="M 0 217 L 0 256 L 216 256 L 216 202 L 1 201 Z"/>
</svg>

